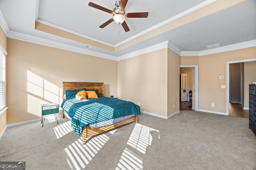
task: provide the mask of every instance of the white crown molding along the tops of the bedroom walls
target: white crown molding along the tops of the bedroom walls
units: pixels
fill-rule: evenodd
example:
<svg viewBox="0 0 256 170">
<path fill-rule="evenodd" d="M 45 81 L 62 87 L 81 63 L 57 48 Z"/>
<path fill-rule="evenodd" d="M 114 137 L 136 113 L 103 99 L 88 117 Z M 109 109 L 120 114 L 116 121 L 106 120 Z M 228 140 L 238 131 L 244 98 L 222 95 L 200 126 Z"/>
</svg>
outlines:
<svg viewBox="0 0 256 170">
<path fill-rule="evenodd" d="M 214 2 L 215 0 L 209 0 L 209 1 L 205 1 L 205 2 Z M 200 5 L 200 4 L 199 4 Z M 203 5 L 203 4 L 201 4 Z M 206 5 L 206 4 L 204 4 Z M 191 9 L 192 10 L 192 9 Z M 195 10 L 195 9 L 194 9 Z M 181 13 L 182 14 L 182 13 Z M 39 20 L 39 19 L 38 19 Z M 40 22 L 44 22 L 42 20 L 39 20 Z M 176 47 L 175 45 L 173 45 L 170 41 L 165 41 L 156 45 L 152 45 L 150 47 L 138 50 L 138 51 L 134 51 L 132 53 L 128 53 L 119 57 L 115 57 L 112 55 L 106 55 L 104 53 L 98 53 L 95 51 L 90 51 L 87 49 L 82 49 L 79 47 L 74 47 L 72 45 L 66 45 L 63 43 L 58 43 L 55 41 L 50 41 L 47 39 L 43 39 L 43 38 L 38 38 L 38 37 L 34 37 L 31 35 L 26 35 L 23 33 L 18 33 L 15 31 L 10 31 L 6 21 L 4 20 L 4 16 L 2 15 L 2 12 L 0 11 L 0 26 L 2 27 L 6 37 L 8 38 L 13 38 L 13 39 L 18 39 L 18 40 L 22 40 L 22 41 L 28 41 L 31 43 L 37 43 L 37 44 L 41 44 L 41 45 L 46 45 L 49 47 L 55 47 L 55 48 L 59 48 L 59 49 L 64 49 L 64 50 L 68 50 L 68 51 L 73 51 L 76 53 L 82 53 L 82 54 L 86 54 L 86 55 L 92 55 L 95 57 L 100 57 L 100 58 L 104 58 L 104 59 L 110 59 L 110 60 L 114 60 L 114 61 L 120 61 L 120 60 L 124 60 L 124 59 L 128 59 L 131 57 L 135 57 L 138 55 L 142 55 L 145 53 L 150 53 L 159 49 L 163 49 L 163 48 L 169 48 L 172 51 L 174 51 L 175 53 L 178 53 L 180 56 L 203 56 L 203 55 L 210 55 L 210 54 L 215 54 L 215 53 L 222 53 L 222 52 L 226 52 L 226 51 L 233 51 L 233 50 L 238 50 L 238 49 L 244 49 L 244 48 L 249 48 L 249 47 L 256 47 L 256 40 L 252 40 L 252 41 L 246 41 L 246 42 L 242 42 L 242 43 L 236 43 L 236 44 L 232 44 L 232 45 L 226 45 L 223 47 L 218 47 L 218 48 L 214 48 L 214 49 L 208 49 L 208 50 L 203 50 L 203 51 L 180 51 L 180 49 L 178 49 L 178 47 Z"/>
</svg>

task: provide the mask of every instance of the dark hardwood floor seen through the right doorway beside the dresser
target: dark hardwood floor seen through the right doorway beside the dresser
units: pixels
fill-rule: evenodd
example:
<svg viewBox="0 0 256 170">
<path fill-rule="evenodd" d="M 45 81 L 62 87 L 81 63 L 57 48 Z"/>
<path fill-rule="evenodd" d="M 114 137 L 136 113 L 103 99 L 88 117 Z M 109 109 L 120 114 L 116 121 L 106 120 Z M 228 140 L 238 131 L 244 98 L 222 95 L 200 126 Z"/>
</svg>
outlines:
<svg viewBox="0 0 256 170">
<path fill-rule="evenodd" d="M 229 103 L 229 115 L 249 118 L 249 110 L 243 109 L 242 105 L 238 103 Z"/>
</svg>

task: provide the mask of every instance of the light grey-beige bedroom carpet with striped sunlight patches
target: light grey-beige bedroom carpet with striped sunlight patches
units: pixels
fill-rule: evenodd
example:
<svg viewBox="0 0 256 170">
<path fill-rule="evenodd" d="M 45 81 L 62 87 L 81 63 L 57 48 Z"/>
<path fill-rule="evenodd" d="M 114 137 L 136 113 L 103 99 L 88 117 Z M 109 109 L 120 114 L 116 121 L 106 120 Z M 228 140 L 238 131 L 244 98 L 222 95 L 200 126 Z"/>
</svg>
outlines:
<svg viewBox="0 0 256 170">
<path fill-rule="evenodd" d="M 87 139 L 68 119 L 8 127 L 0 161 L 25 161 L 27 170 L 256 170 L 256 136 L 248 119 L 180 111 L 170 119 L 139 121 Z"/>
</svg>

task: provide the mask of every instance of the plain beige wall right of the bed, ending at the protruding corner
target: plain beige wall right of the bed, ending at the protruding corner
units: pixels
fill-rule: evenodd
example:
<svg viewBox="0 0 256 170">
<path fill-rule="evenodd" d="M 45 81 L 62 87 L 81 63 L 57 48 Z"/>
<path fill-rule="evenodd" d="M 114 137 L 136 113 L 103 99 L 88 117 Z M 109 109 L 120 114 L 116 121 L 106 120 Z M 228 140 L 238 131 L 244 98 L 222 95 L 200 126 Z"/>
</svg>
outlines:
<svg viewBox="0 0 256 170">
<path fill-rule="evenodd" d="M 118 61 L 118 98 L 167 116 L 167 53 L 166 48 Z"/>
</svg>

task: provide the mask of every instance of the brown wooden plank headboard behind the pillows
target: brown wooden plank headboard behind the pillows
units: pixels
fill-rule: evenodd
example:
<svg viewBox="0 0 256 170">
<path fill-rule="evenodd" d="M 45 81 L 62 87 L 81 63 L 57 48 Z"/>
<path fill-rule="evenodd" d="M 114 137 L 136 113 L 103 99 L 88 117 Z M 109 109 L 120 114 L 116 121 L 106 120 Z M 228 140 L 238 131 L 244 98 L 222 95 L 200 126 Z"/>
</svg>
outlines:
<svg viewBox="0 0 256 170">
<path fill-rule="evenodd" d="M 99 96 L 104 96 L 104 83 L 93 82 L 63 82 L 63 94 L 65 90 L 78 90 L 78 89 L 91 89 L 98 90 Z M 64 98 L 63 98 L 64 100 Z"/>
</svg>

